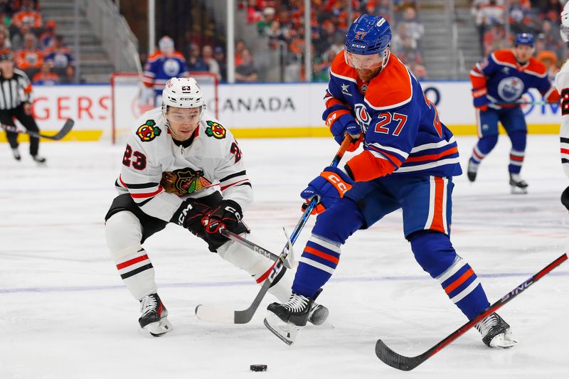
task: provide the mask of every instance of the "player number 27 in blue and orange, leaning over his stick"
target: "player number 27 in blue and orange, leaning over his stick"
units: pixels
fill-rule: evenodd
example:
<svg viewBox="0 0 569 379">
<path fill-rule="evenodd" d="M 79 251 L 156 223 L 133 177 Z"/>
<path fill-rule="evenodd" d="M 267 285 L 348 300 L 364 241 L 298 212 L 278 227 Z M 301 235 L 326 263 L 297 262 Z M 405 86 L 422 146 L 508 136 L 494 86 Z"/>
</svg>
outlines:
<svg viewBox="0 0 569 379">
<path fill-rule="evenodd" d="M 464 315 L 474 319 L 489 306 L 477 275 L 449 237 L 452 176 L 462 173 L 457 143 L 419 82 L 390 54 L 390 40 L 383 17 L 363 14 L 331 65 L 323 118 L 336 140 L 362 133 L 363 151 L 344 169 L 326 167 L 301 193 L 307 200 L 317 196 L 324 212 L 302 252 L 292 296 L 267 308 L 267 327 L 287 343 L 306 324 L 311 304 L 339 264 L 341 245 L 399 208 L 415 260 Z M 477 329 L 487 346 L 515 343 L 497 314 Z"/>
</svg>

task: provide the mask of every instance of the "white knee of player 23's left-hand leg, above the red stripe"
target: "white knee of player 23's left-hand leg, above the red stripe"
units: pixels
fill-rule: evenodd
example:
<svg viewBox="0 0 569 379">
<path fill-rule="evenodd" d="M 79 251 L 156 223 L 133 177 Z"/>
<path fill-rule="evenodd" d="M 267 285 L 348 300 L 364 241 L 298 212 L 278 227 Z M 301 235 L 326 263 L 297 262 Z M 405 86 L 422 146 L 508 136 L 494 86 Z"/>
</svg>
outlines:
<svg viewBox="0 0 569 379">
<path fill-rule="evenodd" d="M 119 260 L 142 248 L 142 225 L 134 213 L 124 210 L 107 220 L 105 237 L 113 259 Z"/>
</svg>

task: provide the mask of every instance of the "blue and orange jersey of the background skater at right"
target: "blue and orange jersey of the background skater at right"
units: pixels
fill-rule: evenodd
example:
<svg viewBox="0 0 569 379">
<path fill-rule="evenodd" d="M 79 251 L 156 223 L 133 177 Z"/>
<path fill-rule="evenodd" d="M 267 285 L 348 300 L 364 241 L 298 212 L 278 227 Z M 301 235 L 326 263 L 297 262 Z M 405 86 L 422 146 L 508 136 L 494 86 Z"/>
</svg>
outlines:
<svg viewBox="0 0 569 379">
<path fill-rule="evenodd" d="M 531 57 L 524 65 L 516 61 L 512 50 L 496 50 L 470 71 L 473 95 L 486 95 L 488 107 L 496 110 L 512 107 L 530 88 L 536 88 L 547 102 L 557 102 L 559 94 L 550 82 L 546 66 Z M 504 104 L 506 103 L 506 104 Z M 515 104 L 513 104 L 515 105 Z"/>
</svg>

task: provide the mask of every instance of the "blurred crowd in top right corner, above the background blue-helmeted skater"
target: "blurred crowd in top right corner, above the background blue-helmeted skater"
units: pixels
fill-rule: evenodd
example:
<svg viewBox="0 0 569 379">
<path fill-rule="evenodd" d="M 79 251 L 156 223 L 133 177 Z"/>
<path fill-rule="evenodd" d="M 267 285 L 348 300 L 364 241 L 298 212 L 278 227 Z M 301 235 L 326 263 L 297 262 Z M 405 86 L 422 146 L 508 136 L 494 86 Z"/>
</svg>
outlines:
<svg viewBox="0 0 569 379">
<path fill-rule="evenodd" d="M 516 34 L 531 33 L 536 40 L 536 57 L 553 78 L 559 65 L 568 58 L 559 34 L 563 3 L 560 0 L 472 0 L 481 55 L 510 48 Z"/>
</svg>

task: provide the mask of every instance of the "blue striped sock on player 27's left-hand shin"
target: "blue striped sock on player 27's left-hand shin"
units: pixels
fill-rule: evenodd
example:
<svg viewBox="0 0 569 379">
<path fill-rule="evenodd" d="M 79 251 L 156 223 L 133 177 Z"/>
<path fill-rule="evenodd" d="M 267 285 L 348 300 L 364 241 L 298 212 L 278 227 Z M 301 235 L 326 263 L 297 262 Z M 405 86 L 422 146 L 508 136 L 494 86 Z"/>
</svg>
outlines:
<svg viewBox="0 0 569 379">
<path fill-rule="evenodd" d="M 314 297 L 340 261 L 340 243 L 313 234 L 299 260 L 292 292 Z"/>
</svg>

